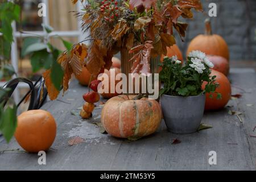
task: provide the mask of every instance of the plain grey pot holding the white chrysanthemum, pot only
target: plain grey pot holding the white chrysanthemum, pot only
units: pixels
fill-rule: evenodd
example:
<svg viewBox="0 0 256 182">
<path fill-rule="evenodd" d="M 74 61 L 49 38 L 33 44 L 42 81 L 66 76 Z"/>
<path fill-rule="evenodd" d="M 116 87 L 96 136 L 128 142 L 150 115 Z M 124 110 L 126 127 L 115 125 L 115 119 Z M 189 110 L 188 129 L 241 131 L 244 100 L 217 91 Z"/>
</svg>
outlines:
<svg viewBox="0 0 256 182">
<path fill-rule="evenodd" d="M 195 133 L 204 115 L 205 95 L 167 96 L 160 99 L 164 121 L 171 133 Z"/>
</svg>

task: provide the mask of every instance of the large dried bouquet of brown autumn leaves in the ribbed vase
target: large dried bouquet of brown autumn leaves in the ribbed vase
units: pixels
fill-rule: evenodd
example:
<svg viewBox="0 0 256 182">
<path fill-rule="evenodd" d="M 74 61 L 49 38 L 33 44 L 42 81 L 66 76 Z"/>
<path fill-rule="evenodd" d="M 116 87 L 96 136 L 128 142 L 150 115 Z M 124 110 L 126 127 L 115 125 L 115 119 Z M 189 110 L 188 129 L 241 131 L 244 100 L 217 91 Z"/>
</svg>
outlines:
<svg viewBox="0 0 256 182">
<path fill-rule="evenodd" d="M 72 0 L 73 4 L 79 0 Z M 150 59 L 166 55 L 167 47 L 175 44 L 174 30 L 181 39 L 188 24 L 178 18 L 192 18 L 192 9 L 203 11 L 200 0 L 80 0 L 84 9 L 76 13 L 83 30 L 90 31 L 89 48 L 81 43 L 60 56 L 58 63 L 64 70 L 63 88 L 68 89 L 71 74 L 79 75 L 80 65 L 92 75 L 110 69 L 115 53 L 126 48 L 134 56 L 131 73 L 150 73 Z M 75 56 L 75 57 L 74 57 Z M 76 65 L 74 67 L 74 65 Z M 48 75 L 49 75 L 48 71 Z M 44 74 L 49 95 L 56 98 L 56 90 Z M 52 94 L 55 93 L 55 94 Z"/>
</svg>

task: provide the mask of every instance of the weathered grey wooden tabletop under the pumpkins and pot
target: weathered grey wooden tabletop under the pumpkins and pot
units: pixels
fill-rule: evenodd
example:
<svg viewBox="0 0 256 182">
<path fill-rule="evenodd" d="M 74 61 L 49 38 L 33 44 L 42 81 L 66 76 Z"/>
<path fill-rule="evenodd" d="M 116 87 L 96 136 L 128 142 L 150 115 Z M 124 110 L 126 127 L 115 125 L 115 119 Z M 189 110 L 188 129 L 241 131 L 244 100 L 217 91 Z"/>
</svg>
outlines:
<svg viewBox="0 0 256 182">
<path fill-rule="evenodd" d="M 0 170 L 255 170 L 256 135 L 256 74 L 254 69 L 232 69 L 229 78 L 233 94 L 221 111 L 206 112 L 203 123 L 212 129 L 189 135 L 167 132 L 162 125 L 146 138 L 131 142 L 101 134 L 94 123 L 100 122 L 101 107 L 94 117 L 83 120 L 79 107 L 84 104 L 85 87 L 72 81 L 64 97 L 49 101 L 43 109 L 50 111 L 57 122 L 57 136 L 46 154 L 46 165 L 39 165 L 37 154 L 27 154 L 16 143 L 9 144 L 0 137 Z M 98 104 L 99 105 L 99 104 Z M 229 110 L 240 111 L 240 119 Z M 71 112 L 72 111 L 72 112 Z M 73 115 L 73 114 L 75 115 Z M 84 138 L 83 143 L 69 146 L 73 137 Z M 174 139 L 181 143 L 172 144 Z M 20 151 L 6 151 L 16 150 Z M 217 164 L 210 165 L 209 152 L 216 151 Z"/>
</svg>

